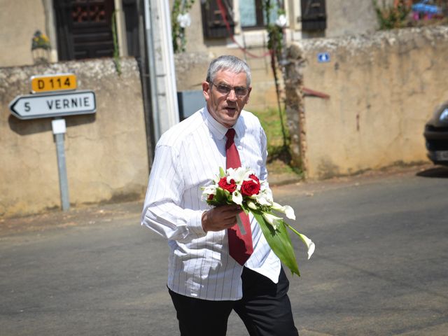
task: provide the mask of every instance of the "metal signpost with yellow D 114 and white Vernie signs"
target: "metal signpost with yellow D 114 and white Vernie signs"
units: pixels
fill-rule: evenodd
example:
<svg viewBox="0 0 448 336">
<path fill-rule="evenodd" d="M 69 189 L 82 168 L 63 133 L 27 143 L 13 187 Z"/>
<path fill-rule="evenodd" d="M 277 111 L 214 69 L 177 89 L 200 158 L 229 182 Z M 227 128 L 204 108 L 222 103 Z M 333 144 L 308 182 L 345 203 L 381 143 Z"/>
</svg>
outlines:
<svg viewBox="0 0 448 336">
<path fill-rule="evenodd" d="M 11 114 L 22 120 L 54 118 L 51 126 L 56 141 L 59 190 L 63 211 L 69 210 L 70 201 L 64 150 L 66 125 L 62 117 L 97 111 L 94 92 L 76 90 L 76 87 L 76 76 L 73 73 L 32 76 L 31 92 L 34 94 L 20 95 L 9 104 Z"/>
</svg>

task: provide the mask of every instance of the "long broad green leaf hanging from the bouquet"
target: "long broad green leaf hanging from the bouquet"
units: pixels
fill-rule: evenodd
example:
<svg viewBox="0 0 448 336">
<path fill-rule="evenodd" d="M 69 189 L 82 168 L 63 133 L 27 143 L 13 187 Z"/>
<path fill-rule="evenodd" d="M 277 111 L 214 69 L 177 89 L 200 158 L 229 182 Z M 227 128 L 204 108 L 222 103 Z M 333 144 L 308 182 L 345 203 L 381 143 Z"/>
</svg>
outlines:
<svg viewBox="0 0 448 336">
<path fill-rule="evenodd" d="M 283 262 L 283 265 L 288 267 L 291 272 L 300 276 L 299 267 L 297 266 L 297 260 L 295 260 L 295 253 L 293 244 L 291 243 L 291 239 L 288 234 L 288 230 L 286 230 L 286 225 L 284 221 L 281 221 L 279 228 L 274 230 L 272 225 L 265 221 L 261 211 L 256 211 L 253 209 L 249 209 L 258 224 L 260 225 L 261 231 L 267 240 L 267 244 L 271 246 L 272 251 L 276 254 L 277 257 Z"/>
</svg>

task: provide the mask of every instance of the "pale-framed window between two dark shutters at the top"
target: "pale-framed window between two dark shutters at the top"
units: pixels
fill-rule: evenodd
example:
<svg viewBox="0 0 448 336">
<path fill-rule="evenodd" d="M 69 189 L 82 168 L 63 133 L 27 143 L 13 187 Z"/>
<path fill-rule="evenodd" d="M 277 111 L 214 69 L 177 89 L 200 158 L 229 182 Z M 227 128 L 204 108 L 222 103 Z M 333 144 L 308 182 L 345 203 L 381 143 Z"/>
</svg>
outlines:
<svg viewBox="0 0 448 336">
<path fill-rule="evenodd" d="M 271 0 L 274 8 L 269 15 L 269 22 L 277 20 L 278 3 Z M 262 28 L 267 25 L 266 11 L 262 8 L 262 0 L 239 0 L 239 18 L 242 29 Z"/>
</svg>

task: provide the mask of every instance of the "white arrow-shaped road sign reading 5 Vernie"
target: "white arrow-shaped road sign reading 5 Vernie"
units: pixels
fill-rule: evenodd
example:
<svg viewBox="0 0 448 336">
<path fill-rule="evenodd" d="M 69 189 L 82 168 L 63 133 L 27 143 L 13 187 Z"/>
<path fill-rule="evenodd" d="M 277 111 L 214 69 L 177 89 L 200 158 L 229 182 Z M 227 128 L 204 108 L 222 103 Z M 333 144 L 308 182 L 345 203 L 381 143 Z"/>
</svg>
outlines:
<svg viewBox="0 0 448 336">
<path fill-rule="evenodd" d="M 80 90 L 20 95 L 9 109 L 19 119 L 36 119 L 95 113 L 97 106 L 93 91 Z"/>
</svg>

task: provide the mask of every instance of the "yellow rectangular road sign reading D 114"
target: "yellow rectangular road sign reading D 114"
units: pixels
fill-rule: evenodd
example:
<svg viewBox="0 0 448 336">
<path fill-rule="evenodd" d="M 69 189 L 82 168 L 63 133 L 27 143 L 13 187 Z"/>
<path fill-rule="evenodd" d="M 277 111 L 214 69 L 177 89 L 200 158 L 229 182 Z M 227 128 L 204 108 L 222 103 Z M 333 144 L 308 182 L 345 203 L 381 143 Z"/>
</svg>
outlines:
<svg viewBox="0 0 448 336">
<path fill-rule="evenodd" d="M 33 93 L 76 90 L 77 86 L 74 73 L 57 73 L 31 77 L 31 92 Z"/>
</svg>

